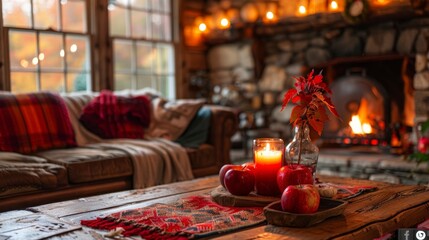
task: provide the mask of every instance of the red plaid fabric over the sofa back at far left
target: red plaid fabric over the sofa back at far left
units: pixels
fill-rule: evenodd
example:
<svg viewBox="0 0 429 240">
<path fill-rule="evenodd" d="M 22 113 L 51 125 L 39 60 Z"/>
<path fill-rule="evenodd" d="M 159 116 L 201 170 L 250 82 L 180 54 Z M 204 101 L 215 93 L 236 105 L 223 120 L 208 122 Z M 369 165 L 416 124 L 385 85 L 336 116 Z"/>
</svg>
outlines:
<svg viewBox="0 0 429 240">
<path fill-rule="evenodd" d="M 54 93 L 0 94 L 0 150 L 31 153 L 76 146 L 62 98 Z"/>
</svg>

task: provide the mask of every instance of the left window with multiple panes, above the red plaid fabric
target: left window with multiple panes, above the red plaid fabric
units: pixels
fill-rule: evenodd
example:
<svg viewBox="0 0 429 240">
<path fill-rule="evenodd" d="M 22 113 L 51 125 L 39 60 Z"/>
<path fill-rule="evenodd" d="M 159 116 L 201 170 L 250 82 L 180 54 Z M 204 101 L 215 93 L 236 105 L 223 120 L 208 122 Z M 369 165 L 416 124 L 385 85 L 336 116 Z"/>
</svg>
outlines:
<svg viewBox="0 0 429 240">
<path fill-rule="evenodd" d="M 9 90 L 91 89 L 85 0 L 2 1 Z"/>
</svg>

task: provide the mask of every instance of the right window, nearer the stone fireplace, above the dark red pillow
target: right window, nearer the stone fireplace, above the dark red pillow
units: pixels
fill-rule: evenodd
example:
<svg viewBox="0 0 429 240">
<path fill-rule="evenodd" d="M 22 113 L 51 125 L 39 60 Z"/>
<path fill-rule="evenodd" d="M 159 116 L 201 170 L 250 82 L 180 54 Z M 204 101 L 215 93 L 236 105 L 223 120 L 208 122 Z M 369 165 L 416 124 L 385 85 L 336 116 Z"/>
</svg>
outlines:
<svg viewBox="0 0 429 240">
<path fill-rule="evenodd" d="M 155 88 L 175 98 L 170 0 L 111 0 L 116 90 Z"/>
</svg>

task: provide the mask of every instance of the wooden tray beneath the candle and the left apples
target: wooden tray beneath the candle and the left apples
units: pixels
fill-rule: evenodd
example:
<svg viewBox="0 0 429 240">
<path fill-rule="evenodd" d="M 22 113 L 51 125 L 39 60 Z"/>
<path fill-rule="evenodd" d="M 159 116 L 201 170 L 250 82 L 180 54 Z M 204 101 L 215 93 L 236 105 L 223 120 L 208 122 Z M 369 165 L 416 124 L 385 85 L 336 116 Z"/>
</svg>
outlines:
<svg viewBox="0 0 429 240">
<path fill-rule="evenodd" d="M 217 204 L 228 207 L 265 207 L 280 200 L 280 197 L 261 196 L 256 195 L 254 192 L 247 196 L 235 196 L 229 193 L 222 185 L 213 189 L 210 195 Z"/>
</svg>

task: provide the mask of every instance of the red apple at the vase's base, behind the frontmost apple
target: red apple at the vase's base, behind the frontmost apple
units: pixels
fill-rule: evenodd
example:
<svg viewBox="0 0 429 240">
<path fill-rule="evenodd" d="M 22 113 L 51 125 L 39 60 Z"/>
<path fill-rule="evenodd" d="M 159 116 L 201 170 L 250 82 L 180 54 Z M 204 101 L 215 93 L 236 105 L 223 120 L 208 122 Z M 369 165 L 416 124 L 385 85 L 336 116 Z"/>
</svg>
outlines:
<svg viewBox="0 0 429 240">
<path fill-rule="evenodd" d="M 313 173 L 307 166 L 286 165 L 277 171 L 277 185 L 281 193 L 290 185 L 313 183 Z"/>
</svg>

